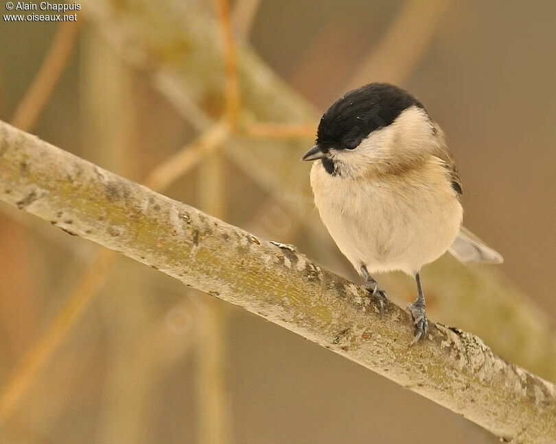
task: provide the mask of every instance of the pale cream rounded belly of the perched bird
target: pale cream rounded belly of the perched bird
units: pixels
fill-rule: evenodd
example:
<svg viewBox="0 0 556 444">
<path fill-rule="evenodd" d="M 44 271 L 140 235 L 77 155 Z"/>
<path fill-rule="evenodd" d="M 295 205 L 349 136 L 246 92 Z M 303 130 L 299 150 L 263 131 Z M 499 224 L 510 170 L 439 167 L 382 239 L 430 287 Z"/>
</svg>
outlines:
<svg viewBox="0 0 556 444">
<path fill-rule="evenodd" d="M 359 271 L 414 274 L 441 256 L 459 232 L 463 210 L 453 190 L 384 184 L 345 186 L 342 198 L 315 193 L 323 223 Z"/>
</svg>

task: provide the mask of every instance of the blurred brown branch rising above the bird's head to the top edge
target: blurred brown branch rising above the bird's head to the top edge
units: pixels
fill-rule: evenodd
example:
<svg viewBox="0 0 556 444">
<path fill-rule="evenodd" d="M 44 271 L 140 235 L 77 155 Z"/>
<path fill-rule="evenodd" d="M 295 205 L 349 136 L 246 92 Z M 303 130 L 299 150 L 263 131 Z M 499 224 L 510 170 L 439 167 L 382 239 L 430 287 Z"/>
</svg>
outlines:
<svg viewBox="0 0 556 444">
<path fill-rule="evenodd" d="M 404 84 L 426 53 L 443 12 L 452 0 L 407 0 L 389 29 L 344 84 L 345 90 L 369 82 Z"/>
</svg>

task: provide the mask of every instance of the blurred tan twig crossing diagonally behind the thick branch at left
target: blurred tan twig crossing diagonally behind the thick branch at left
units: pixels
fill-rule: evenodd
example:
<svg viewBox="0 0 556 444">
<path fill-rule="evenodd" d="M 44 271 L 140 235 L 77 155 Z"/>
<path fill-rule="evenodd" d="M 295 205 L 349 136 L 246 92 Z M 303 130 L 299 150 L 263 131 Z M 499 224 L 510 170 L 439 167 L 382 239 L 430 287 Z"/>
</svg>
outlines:
<svg viewBox="0 0 556 444">
<path fill-rule="evenodd" d="M 164 190 L 181 175 L 192 169 L 203 153 L 218 147 L 227 137 L 227 125 L 215 125 L 187 145 L 172 158 L 154 169 L 146 178 L 146 184 L 156 190 Z M 189 152 L 192 151 L 191 154 Z M 165 177 L 167 175 L 167 177 Z M 47 365 L 65 337 L 71 332 L 84 310 L 100 291 L 111 271 L 111 264 L 117 258 L 115 251 L 99 249 L 91 264 L 78 278 L 78 284 L 67 297 L 67 301 L 47 327 L 47 330 L 25 353 L 19 364 L 10 373 L 0 397 L 0 425 L 5 422 L 19 404 L 23 395 L 32 385 L 36 375 Z"/>
</svg>

